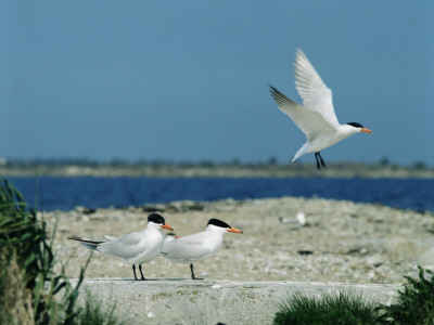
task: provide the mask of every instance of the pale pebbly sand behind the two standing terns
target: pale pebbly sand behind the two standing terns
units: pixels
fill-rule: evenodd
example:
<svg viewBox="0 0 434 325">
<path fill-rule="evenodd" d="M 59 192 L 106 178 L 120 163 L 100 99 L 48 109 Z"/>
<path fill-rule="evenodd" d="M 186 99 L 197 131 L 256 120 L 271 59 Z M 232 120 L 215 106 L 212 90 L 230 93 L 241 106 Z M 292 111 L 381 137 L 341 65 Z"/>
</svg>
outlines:
<svg viewBox="0 0 434 325">
<path fill-rule="evenodd" d="M 404 274 L 416 275 L 418 264 L 434 269 L 434 213 L 298 197 L 44 212 L 50 229 L 59 221 L 56 269 L 66 264 L 67 275 L 77 277 L 89 256 L 68 236 L 120 236 L 145 227 L 152 211 L 180 236 L 203 231 L 210 218 L 243 230 L 242 235 L 226 234 L 220 250 L 194 265 L 196 276 L 206 278 L 392 284 L 403 283 Z M 164 257 L 143 264 L 143 271 L 151 278 L 190 277 L 188 265 Z M 132 271 L 124 261 L 95 252 L 86 277 L 131 278 Z"/>
</svg>

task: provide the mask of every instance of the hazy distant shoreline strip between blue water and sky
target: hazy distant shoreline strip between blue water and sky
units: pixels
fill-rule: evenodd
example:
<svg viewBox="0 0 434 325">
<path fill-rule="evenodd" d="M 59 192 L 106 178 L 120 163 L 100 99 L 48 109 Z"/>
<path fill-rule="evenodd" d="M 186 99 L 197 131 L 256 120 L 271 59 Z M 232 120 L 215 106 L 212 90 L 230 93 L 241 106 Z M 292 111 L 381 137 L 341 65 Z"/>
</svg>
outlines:
<svg viewBox="0 0 434 325">
<path fill-rule="evenodd" d="M 417 178 L 434 179 L 434 168 L 384 164 L 33 164 L 0 166 L 0 177 L 155 177 L 155 178 Z"/>
</svg>

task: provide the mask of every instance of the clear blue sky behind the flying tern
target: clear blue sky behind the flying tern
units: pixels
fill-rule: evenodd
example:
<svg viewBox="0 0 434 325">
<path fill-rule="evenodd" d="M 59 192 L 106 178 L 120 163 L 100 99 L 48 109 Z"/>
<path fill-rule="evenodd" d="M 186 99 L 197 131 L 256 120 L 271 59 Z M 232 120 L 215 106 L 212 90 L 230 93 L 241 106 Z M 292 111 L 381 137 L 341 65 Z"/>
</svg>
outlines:
<svg viewBox="0 0 434 325">
<path fill-rule="evenodd" d="M 434 165 L 432 1 L 0 3 L 0 157 L 288 161 L 299 48 L 374 131 L 326 161 Z"/>
</svg>

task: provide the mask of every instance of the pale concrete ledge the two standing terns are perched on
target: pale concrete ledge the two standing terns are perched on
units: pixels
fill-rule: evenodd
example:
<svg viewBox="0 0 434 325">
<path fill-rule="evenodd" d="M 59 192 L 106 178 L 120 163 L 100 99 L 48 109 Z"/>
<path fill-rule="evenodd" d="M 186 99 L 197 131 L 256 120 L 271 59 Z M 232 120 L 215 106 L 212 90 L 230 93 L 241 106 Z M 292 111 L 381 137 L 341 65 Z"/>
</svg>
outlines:
<svg viewBox="0 0 434 325">
<path fill-rule="evenodd" d="M 73 280 L 75 285 L 77 280 Z M 116 302 L 117 311 L 133 324 L 270 324 L 280 301 L 295 291 L 319 295 L 353 290 L 366 299 L 391 303 L 400 285 L 230 282 L 191 280 L 85 280 L 79 301 L 88 291 Z M 105 303 L 106 302 L 106 303 Z"/>
</svg>

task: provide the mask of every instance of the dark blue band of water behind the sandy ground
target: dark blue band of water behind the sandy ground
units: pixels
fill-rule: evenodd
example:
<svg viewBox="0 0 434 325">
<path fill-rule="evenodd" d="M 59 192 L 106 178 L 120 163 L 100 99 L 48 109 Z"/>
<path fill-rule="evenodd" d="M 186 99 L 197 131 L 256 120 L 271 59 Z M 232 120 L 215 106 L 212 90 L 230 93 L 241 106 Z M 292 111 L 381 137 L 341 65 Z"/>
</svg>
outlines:
<svg viewBox="0 0 434 325">
<path fill-rule="evenodd" d="M 333 178 L 10 178 L 38 210 L 107 208 L 173 200 L 322 197 L 434 211 L 434 180 Z"/>
</svg>

